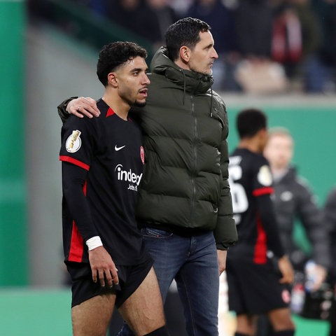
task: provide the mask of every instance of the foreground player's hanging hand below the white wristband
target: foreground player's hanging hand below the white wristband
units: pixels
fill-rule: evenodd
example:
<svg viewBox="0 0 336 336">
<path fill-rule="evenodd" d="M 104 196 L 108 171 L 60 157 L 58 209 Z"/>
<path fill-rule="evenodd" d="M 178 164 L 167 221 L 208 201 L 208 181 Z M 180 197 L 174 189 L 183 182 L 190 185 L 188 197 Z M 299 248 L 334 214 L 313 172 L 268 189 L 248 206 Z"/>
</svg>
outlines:
<svg viewBox="0 0 336 336">
<path fill-rule="evenodd" d="M 93 282 L 97 282 L 99 279 L 102 287 L 105 287 L 106 282 L 109 287 L 113 286 L 113 282 L 118 285 L 118 269 L 116 269 L 111 255 L 109 255 L 104 246 L 99 246 L 89 251 L 89 260 Z"/>
</svg>

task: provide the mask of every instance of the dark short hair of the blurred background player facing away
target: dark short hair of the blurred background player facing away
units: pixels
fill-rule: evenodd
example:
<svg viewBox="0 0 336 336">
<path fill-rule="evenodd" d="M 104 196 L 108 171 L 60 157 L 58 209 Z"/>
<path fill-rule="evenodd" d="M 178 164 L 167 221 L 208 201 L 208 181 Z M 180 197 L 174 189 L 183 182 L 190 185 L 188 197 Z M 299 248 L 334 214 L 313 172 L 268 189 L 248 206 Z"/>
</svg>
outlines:
<svg viewBox="0 0 336 336">
<path fill-rule="evenodd" d="M 237 115 L 236 126 L 240 139 L 251 138 L 267 128 L 267 116 L 259 109 L 244 109 Z"/>
</svg>

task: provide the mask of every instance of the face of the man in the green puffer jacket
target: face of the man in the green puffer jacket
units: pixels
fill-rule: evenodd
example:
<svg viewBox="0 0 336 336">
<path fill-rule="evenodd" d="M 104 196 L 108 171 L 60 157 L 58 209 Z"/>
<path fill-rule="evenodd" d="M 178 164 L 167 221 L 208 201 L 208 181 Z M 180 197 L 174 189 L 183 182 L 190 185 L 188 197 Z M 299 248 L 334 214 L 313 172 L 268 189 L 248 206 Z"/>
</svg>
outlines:
<svg viewBox="0 0 336 336">
<path fill-rule="evenodd" d="M 218 59 L 211 32 L 200 32 L 200 41 L 195 45 L 194 50 L 190 50 L 190 52 L 188 63 L 190 70 L 211 75 L 212 66 L 215 60 Z"/>
</svg>

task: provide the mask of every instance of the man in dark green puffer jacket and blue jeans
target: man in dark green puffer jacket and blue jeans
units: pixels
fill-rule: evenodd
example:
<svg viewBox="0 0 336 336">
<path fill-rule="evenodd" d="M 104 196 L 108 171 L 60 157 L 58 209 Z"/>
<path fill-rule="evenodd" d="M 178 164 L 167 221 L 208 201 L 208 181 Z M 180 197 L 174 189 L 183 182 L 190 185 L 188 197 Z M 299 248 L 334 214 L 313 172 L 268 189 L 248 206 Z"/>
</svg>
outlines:
<svg viewBox="0 0 336 336">
<path fill-rule="evenodd" d="M 166 42 L 151 62 L 147 104 L 131 113 L 143 130 L 146 155 L 137 218 L 163 300 L 175 279 L 188 335 L 216 336 L 219 274 L 226 250 L 237 242 L 228 118 L 211 90 L 218 55 L 209 25 L 198 19 L 175 22 Z M 98 116 L 95 101 L 84 97 L 59 105 L 63 120 L 68 113 Z M 120 335 L 132 333 L 125 326 Z"/>
</svg>

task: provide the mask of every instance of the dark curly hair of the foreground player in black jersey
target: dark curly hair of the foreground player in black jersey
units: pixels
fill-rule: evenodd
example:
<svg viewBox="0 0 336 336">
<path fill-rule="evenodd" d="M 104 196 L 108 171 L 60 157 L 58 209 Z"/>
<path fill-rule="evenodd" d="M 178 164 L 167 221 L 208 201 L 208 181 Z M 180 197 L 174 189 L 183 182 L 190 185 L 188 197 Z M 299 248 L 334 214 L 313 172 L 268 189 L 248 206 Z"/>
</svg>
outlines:
<svg viewBox="0 0 336 336">
<path fill-rule="evenodd" d="M 107 85 L 107 76 L 118 66 L 135 57 L 146 59 L 147 52 L 134 42 L 113 42 L 104 45 L 99 52 L 97 62 L 97 76 L 104 86 Z"/>
</svg>

